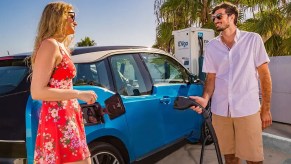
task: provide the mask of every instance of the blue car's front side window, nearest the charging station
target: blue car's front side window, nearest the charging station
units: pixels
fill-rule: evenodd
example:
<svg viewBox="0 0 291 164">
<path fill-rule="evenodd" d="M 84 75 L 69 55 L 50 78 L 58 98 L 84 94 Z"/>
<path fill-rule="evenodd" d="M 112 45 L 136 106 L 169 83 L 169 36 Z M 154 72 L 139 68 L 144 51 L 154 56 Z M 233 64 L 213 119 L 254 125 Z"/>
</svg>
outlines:
<svg viewBox="0 0 291 164">
<path fill-rule="evenodd" d="M 154 84 L 186 83 L 188 74 L 179 62 L 162 54 L 141 54 Z"/>
</svg>

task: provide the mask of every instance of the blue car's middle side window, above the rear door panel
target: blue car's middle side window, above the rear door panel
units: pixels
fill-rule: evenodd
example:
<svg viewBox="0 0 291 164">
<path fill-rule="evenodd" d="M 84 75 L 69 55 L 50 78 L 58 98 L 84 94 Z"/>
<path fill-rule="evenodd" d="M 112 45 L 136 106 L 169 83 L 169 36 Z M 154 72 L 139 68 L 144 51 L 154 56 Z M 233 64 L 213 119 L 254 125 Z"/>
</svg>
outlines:
<svg viewBox="0 0 291 164">
<path fill-rule="evenodd" d="M 115 79 L 116 90 L 119 94 L 138 96 L 151 92 L 146 87 L 146 79 L 142 76 L 141 68 L 138 66 L 134 55 L 124 54 L 112 56 L 110 58 L 110 64 Z"/>
</svg>

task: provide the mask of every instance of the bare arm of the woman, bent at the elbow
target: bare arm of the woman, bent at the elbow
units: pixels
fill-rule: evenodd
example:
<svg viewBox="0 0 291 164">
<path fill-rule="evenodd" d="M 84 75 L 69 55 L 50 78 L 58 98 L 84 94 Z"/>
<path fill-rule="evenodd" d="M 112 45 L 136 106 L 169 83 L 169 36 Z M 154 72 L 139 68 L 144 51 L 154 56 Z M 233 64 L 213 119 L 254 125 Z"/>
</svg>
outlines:
<svg viewBox="0 0 291 164">
<path fill-rule="evenodd" d="M 44 40 L 37 52 L 33 66 L 31 96 L 44 101 L 61 101 L 78 98 L 87 103 L 96 101 L 93 91 L 77 91 L 48 87 L 54 67 L 60 63 L 61 54 L 57 42 L 53 39 Z M 92 100 L 93 99 L 93 100 Z"/>
</svg>

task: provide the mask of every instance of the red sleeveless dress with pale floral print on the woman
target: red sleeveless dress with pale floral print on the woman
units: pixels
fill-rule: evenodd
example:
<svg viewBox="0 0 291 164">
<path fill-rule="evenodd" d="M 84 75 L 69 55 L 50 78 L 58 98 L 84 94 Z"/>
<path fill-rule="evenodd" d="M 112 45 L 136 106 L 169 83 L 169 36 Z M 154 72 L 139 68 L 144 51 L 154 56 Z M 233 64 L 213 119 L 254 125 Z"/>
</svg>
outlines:
<svg viewBox="0 0 291 164">
<path fill-rule="evenodd" d="M 48 86 L 72 89 L 76 68 L 60 48 L 61 63 L 54 69 Z M 77 99 L 43 101 L 36 137 L 34 163 L 60 164 L 84 160 L 90 156 L 83 117 Z"/>
</svg>

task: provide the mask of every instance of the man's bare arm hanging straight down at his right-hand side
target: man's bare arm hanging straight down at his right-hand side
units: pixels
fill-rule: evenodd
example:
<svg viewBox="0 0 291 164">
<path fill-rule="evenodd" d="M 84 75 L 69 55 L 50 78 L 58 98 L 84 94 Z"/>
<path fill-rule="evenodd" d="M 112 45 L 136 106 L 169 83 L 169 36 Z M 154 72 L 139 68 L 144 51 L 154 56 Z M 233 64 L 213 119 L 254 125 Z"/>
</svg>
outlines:
<svg viewBox="0 0 291 164">
<path fill-rule="evenodd" d="M 271 115 L 271 94 L 272 94 L 272 80 L 268 67 L 268 63 L 264 63 L 258 67 L 260 76 L 260 85 L 262 90 L 262 104 L 261 104 L 261 120 L 262 128 L 265 129 L 272 124 Z"/>
</svg>

